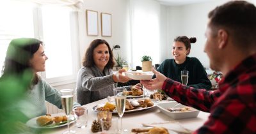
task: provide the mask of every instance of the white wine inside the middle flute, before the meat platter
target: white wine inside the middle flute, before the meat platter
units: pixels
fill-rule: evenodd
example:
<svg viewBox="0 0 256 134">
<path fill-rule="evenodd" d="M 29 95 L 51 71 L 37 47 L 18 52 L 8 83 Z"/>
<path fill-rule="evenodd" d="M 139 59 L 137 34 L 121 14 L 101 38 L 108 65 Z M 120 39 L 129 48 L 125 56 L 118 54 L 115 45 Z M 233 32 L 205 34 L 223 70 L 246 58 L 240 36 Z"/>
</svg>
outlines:
<svg viewBox="0 0 256 134">
<path fill-rule="evenodd" d="M 118 113 L 119 117 L 122 117 L 124 115 L 126 97 L 125 96 L 116 96 L 115 101 L 116 101 L 117 113 Z"/>
</svg>

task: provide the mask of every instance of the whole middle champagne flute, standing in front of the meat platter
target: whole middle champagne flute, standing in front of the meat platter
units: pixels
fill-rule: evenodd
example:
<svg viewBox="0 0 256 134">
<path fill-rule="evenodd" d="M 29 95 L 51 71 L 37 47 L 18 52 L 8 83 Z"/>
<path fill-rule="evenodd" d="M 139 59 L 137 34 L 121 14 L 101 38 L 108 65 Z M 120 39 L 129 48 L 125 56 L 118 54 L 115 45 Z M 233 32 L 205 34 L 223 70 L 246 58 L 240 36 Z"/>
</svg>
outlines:
<svg viewBox="0 0 256 134">
<path fill-rule="evenodd" d="M 116 102 L 116 110 L 117 113 L 119 115 L 119 119 L 121 120 L 121 126 L 120 128 L 118 128 L 118 133 L 122 133 L 123 131 L 123 121 L 122 121 L 122 117 L 124 115 L 124 111 L 125 111 L 125 101 L 126 101 L 126 96 L 124 96 L 121 92 L 124 90 L 125 88 L 116 88 L 114 89 L 114 94 L 115 94 L 115 102 Z"/>
</svg>

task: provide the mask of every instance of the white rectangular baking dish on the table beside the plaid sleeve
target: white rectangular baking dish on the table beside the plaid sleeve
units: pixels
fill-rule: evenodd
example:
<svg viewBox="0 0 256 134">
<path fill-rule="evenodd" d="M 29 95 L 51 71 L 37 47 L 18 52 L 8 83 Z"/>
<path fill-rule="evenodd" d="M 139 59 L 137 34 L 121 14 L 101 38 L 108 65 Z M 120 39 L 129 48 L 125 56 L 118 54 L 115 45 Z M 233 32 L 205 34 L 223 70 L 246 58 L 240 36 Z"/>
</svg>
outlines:
<svg viewBox="0 0 256 134">
<path fill-rule="evenodd" d="M 171 117 L 172 119 L 184 119 L 184 118 L 192 118 L 192 117 L 197 117 L 197 115 L 199 114 L 199 110 L 191 110 L 188 112 L 170 112 L 169 110 L 167 110 L 168 108 L 172 108 L 175 105 L 177 105 L 178 103 L 175 102 L 165 102 L 165 103 L 158 103 L 157 107 L 159 108 L 159 110 L 161 112 L 163 112 L 163 114 L 168 115 L 169 117 Z M 177 105 L 177 107 L 186 107 L 184 105 Z"/>
</svg>

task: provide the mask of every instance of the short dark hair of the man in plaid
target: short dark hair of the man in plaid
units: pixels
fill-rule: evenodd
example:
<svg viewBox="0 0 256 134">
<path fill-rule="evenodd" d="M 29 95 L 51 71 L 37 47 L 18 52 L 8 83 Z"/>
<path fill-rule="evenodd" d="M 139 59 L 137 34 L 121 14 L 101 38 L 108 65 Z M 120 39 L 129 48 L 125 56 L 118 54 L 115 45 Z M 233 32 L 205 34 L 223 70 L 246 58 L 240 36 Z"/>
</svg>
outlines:
<svg viewBox="0 0 256 134">
<path fill-rule="evenodd" d="M 216 29 L 215 32 L 220 28 L 225 29 L 236 47 L 255 47 L 256 7 L 253 4 L 246 1 L 229 1 L 209 12 L 208 17 L 209 26 Z"/>
</svg>

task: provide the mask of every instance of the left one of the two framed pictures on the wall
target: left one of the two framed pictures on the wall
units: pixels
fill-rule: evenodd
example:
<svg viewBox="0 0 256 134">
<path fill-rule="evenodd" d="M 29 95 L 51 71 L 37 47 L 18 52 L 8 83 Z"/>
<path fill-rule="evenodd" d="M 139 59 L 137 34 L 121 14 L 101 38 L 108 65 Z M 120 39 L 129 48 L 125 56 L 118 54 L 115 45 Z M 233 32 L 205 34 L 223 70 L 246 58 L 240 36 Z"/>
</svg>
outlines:
<svg viewBox="0 0 256 134">
<path fill-rule="evenodd" d="M 87 35 L 98 36 L 98 11 L 86 10 Z"/>
</svg>

